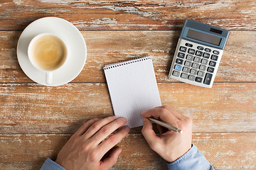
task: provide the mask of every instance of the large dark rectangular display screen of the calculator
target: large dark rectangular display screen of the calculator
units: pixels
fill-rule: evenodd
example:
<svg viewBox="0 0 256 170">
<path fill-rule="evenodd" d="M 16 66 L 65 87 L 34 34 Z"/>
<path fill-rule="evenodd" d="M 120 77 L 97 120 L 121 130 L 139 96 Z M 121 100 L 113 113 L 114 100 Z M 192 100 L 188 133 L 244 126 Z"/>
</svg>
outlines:
<svg viewBox="0 0 256 170">
<path fill-rule="evenodd" d="M 215 37 L 213 35 L 209 35 L 206 33 L 201 33 L 196 30 L 188 29 L 188 33 L 186 35 L 188 38 L 192 38 L 195 40 L 201 40 L 203 42 L 208 42 L 213 45 L 220 45 L 221 38 Z"/>
</svg>

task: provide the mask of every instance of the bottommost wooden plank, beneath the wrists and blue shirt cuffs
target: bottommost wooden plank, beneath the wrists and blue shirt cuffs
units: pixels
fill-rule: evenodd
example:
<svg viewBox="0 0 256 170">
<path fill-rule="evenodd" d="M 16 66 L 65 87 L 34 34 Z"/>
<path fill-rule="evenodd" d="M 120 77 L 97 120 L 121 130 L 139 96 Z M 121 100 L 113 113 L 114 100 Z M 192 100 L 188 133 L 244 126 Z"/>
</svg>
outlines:
<svg viewBox="0 0 256 170">
<path fill-rule="evenodd" d="M 193 143 L 215 169 L 256 169 L 256 133 L 196 133 Z M 0 135 L 0 169 L 40 169 L 55 159 L 70 135 Z M 167 169 L 141 134 L 129 134 L 119 144 L 119 160 L 112 169 Z M 132 149 L 131 149 L 132 148 Z"/>
</svg>

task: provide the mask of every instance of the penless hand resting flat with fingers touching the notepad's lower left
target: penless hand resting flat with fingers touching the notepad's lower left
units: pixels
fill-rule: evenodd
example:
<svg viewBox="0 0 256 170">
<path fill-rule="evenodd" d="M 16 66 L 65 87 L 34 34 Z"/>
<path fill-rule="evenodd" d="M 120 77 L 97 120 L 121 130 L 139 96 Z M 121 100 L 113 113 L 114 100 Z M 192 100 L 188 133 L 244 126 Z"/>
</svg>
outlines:
<svg viewBox="0 0 256 170">
<path fill-rule="evenodd" d="M 116 116 L 87 121 L 60 150 L 56 162 L 67 170 L 110 169 L 117 163 L 117 158 L 122 151 L 119 147 L 114 149 L 112 147 L 128 134 L 129 127 L 122 127 L 114 135 L 111 133 L 126 122 L 125 118 Z M 108 157 L 101 160 L 110 149 L 112 150 Z"/>
</svg>

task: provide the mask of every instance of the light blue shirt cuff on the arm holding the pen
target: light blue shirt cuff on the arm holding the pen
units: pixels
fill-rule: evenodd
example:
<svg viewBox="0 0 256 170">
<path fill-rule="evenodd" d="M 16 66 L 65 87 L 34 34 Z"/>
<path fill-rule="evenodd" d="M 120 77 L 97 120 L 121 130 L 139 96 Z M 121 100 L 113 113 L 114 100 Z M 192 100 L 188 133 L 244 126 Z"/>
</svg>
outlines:
<svg viewBox="0 0 256 170">
<path fill-rule="evenodd" d="M 202 169 L 202 170 L 214 170 L 213 166 L 207 161 L 206 157 L 201 154 L 195 145 L 192 145 L 191 149 L 178 158 L 175 162 L 167 164 L 169 170 L 179 169 Z"/>
</svg>

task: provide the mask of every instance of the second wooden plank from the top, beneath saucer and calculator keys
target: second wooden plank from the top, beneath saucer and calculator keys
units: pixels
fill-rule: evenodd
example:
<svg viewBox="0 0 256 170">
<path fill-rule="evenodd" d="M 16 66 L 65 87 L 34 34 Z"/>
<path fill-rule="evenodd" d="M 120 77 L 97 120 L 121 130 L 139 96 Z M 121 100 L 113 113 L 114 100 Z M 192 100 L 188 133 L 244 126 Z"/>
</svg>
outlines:
<svg viewBox="0 0 256 170">
<path fill-rule="evenodd" d="M 16 44 L 21 31 L 0 31 L 0 81 L 32 82 L 21 70 Z M 87 42 L 87 61 L 73 82 L 105 82 L 103 66 L 132 57 L 153 57 L 158 82 L 168 78 L 179 31 L 82 31 Z M 255 81 L 255 31 L 232 31 L 220 62 L 217 81 Z M 92 76 L 93 75 L 93 76 Z"/>
</svg>

